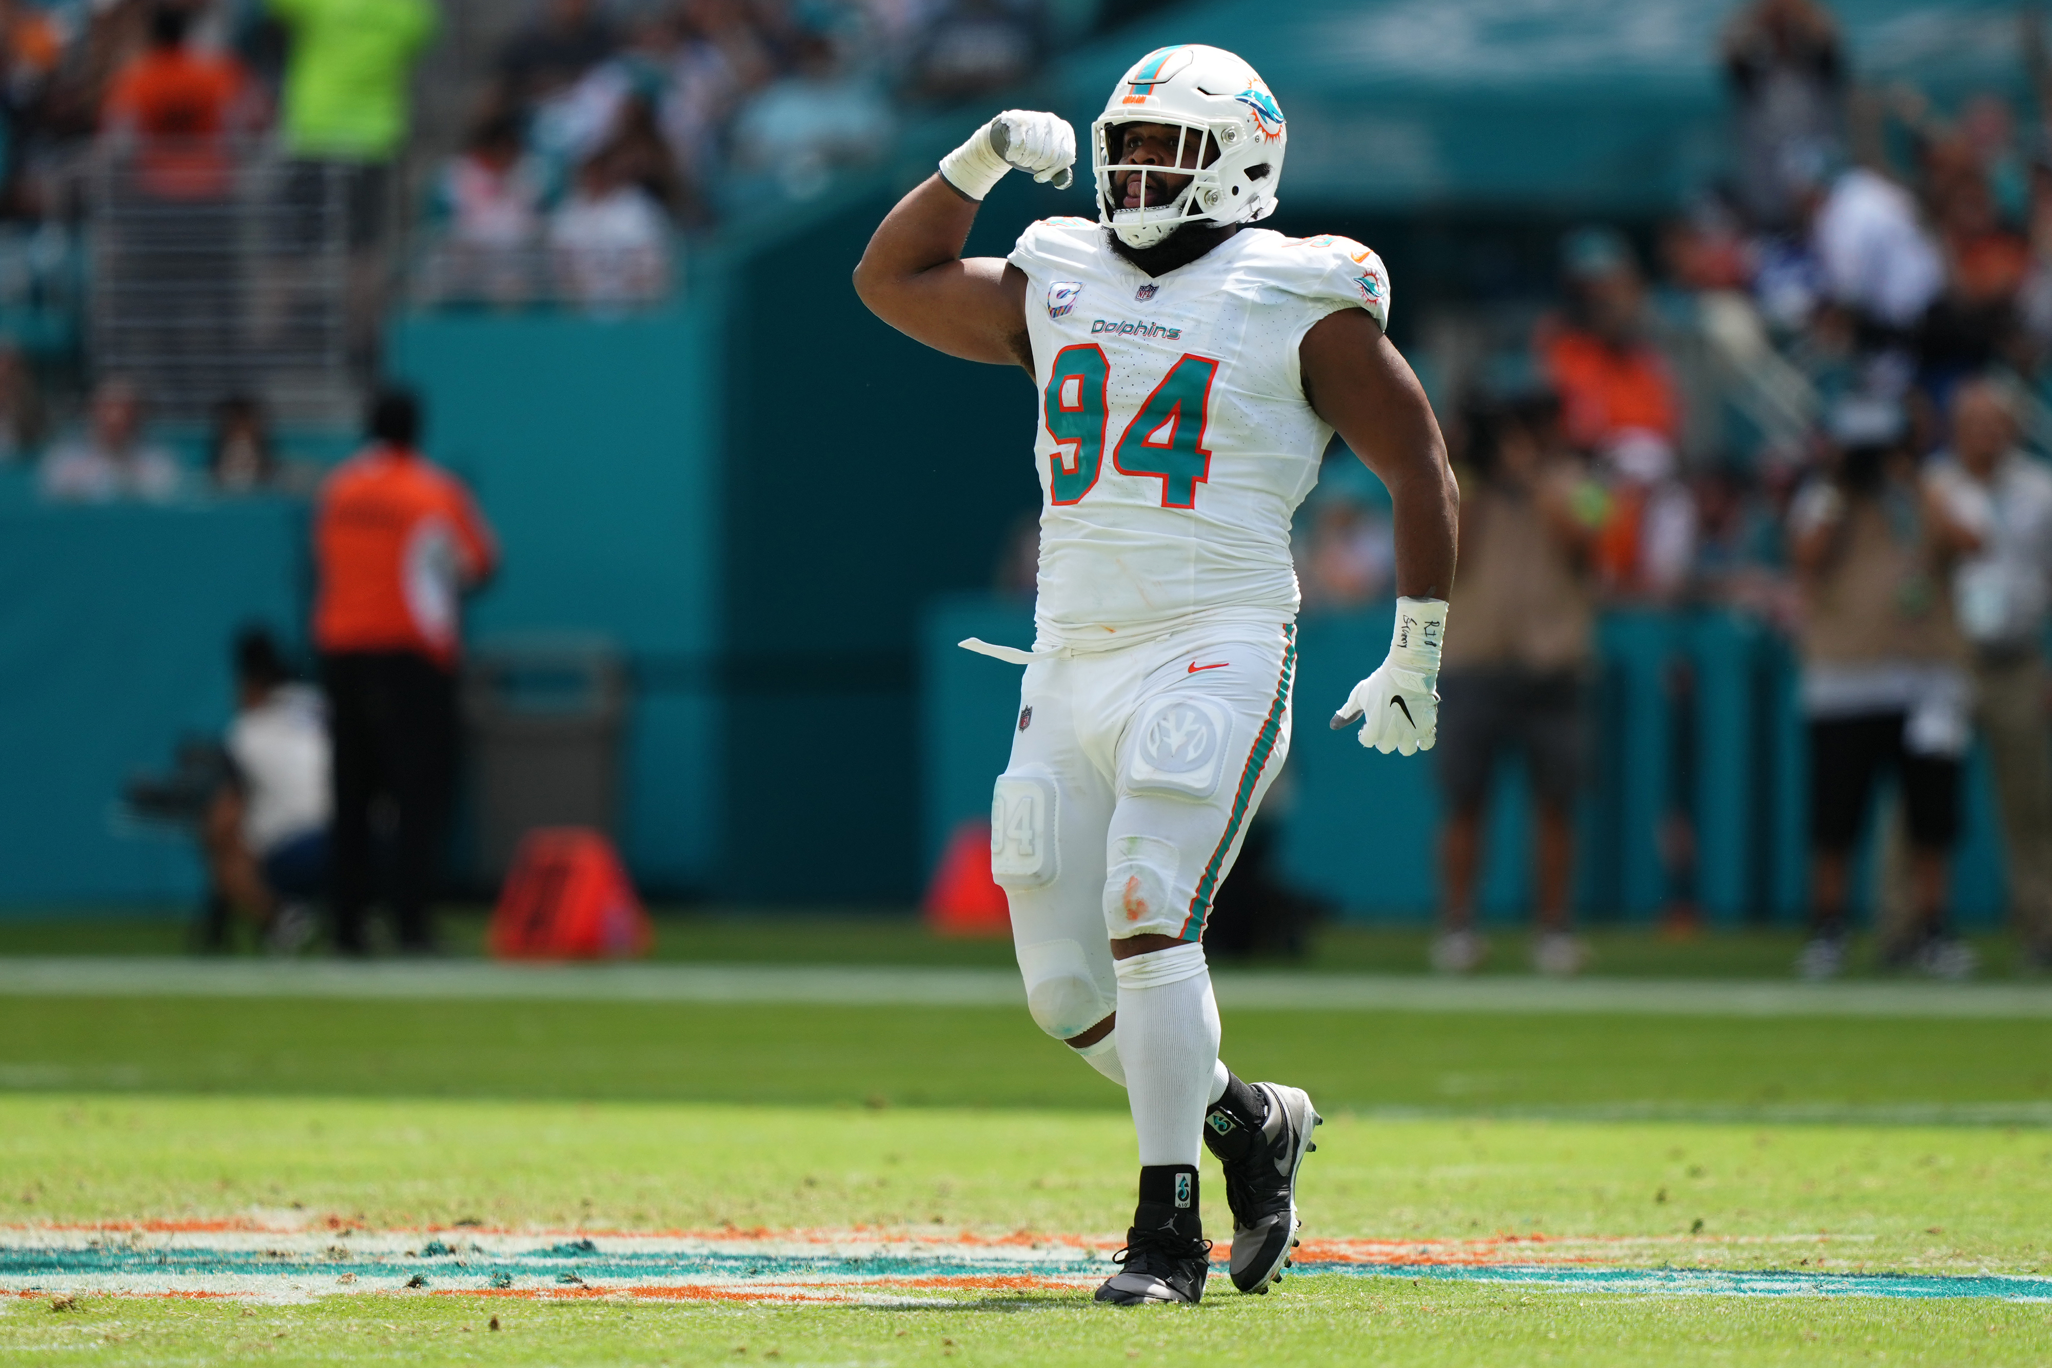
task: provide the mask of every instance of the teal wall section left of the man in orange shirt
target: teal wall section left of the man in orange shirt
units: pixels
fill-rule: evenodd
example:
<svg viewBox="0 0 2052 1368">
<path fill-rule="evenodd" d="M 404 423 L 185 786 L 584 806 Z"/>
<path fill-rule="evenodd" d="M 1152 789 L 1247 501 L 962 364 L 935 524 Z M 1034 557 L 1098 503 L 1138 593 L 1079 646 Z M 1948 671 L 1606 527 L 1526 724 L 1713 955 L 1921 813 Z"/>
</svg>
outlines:
<svg viewBox="0 0 2052 1368">
<path fill-rule="evenodd" d="M 168 902 L 199 890 L 189 839 L 117 814 L 181 734 L 220 734 L 244 623 L 302 636 L 306 511 L 47 509 L 0 482 L 0 913 Z"/>
</svg>

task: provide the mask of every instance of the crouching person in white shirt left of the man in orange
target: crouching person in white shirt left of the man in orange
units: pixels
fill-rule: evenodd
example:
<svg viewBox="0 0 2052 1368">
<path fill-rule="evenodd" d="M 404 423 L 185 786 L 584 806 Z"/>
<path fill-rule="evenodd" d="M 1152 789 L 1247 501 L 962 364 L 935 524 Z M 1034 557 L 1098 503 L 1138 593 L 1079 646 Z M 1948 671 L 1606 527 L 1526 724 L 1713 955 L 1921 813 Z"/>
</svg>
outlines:
<svg viewBox="0 0 2052 1368">
<path fill-rule="evenodd" d="M 213 945 L 228 917 L 263 929 L 265 948 L 293 954 L 312 939 L 328 874 L 328 720 L 320 691 L 293 683 L 269 632 L 236 638 L 236 720 L 230 781 L 201 833 L 213 880 Z"/>
</svg>

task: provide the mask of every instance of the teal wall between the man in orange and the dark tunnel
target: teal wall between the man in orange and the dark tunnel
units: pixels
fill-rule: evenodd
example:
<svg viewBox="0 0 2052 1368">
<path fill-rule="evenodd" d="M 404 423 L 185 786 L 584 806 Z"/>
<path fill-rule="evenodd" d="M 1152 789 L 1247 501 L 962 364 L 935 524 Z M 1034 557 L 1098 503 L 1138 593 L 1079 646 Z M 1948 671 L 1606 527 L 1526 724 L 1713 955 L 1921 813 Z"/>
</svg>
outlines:
<svg viewBox="0 0 2052 1368">
<path fill-rule="evenodd" d="M 390 365 L 476 490 L 505 568 L 468 636 L 603 636 L 632 665 L 622 847 L 644 888 L 716 878 L 722 275 L 657 314 L 417 314 Z"/>
</svg>

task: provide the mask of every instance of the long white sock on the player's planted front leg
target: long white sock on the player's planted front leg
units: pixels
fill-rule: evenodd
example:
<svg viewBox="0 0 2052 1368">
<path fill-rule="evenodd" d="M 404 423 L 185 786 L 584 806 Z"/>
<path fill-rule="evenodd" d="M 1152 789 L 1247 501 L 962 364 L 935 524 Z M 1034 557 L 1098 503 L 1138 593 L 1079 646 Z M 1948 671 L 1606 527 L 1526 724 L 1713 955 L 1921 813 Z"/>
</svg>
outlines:
<svg viewBox="0 0 2052 1368">
<path fill-rule="evenodd" d="M 1196 1165 L 1205 1146 L 1205 1108 L 1225 1091 L 1219 1003 L 1211 997 L 1205 948 L 1157 950 L 1118 960 L 1114 970 L 1118 1030 L 1112 1036 L 1124 1064 L 1141 1167 Z"/>
</svg>

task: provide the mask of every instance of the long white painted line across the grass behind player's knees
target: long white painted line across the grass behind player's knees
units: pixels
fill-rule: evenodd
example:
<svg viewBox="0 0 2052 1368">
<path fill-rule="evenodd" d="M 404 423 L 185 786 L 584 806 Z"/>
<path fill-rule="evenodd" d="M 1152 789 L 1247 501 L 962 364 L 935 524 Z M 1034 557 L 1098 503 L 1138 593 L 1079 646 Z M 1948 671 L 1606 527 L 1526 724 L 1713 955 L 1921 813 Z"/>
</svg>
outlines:
<svg viewBox="0 0 2052 1368">
<path fill-rule="evenodd" d="M 2052 987 L 1730 982 L 1691 978 L 1426 978 L 1233 972 L 1241 1011 L 1615 1013 L 1664 1017 L 2052 1019 Z M 12 997 L 293 997 L 603 1003 L 806 1003 L 1024 1009 L 1001 968 L 780 964 L 334 964 L 172 958 L 0 958 Z"/>
</svg>

